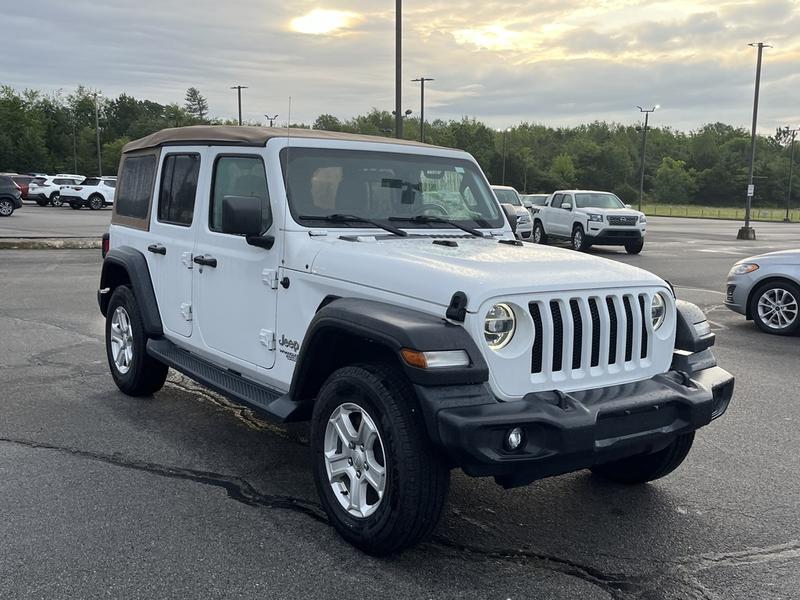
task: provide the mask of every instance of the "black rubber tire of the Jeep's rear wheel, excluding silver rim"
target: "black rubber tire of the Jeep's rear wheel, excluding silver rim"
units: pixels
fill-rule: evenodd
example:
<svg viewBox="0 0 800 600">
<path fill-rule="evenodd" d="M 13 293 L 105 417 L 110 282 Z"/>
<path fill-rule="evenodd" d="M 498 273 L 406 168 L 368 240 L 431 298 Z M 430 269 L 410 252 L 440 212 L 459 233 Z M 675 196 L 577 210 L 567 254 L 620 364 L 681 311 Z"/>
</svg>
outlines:
<svg viewBox="0 0 800 600">
<path fill-rule="evenodd" d="M 133 334 L 133 359 L 126 373 L 121 373 L 117 368 L 111 350 L 111 320 L 119 306 L 125 309 Z M 128 396 L 149 396 L 160 390 L 167 379 L 169 367 L 147 354 L 146 347 L 147 336 L 136 296 L 127 285 L 117 286 L 111 295 L 106 312 L 106 356 L 114 383 Z"/>
</svg>

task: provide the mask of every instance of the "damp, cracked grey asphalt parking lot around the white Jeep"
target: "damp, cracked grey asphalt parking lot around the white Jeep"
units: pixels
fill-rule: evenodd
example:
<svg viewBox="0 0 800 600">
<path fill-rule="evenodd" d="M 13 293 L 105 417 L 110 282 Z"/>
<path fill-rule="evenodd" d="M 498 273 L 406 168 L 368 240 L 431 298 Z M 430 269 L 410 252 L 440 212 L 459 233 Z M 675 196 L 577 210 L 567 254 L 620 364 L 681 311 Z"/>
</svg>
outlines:
<svg viewBox="0 0 800 600">
<path fill-rule="evenodd" d="M 381 560 L 327 524 L 302 428 L 177 375 L 151 399 L 117 391 L 99 251 L 0 251 L 0 597 L 797 598 L 800 339 L 757 332 L 722 299 L 736 260 L 797 247 L 800 226 L 757 223 L 757 241 L 737 242 L 738 226 L 651 218 L 640 256 L 593 250 L 708 311 L 737 377 L 678 471 L 510 491 L 454 472 L 434 539 Z"/>
</svg>

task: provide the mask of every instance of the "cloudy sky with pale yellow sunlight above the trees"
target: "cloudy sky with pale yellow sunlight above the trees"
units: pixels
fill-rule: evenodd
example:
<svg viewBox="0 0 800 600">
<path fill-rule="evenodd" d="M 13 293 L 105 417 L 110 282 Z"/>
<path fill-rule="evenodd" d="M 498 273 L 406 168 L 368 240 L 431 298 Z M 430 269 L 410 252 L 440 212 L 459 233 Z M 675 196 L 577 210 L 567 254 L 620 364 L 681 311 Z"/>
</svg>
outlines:
<svg viewBox="0 0 800 600">
<path fill-rule="evenodd" d="M 183 101 L 211 114 L 312 121 L 394 108 L 391 0 L 0 0 L 0 84 Z M 800 0 L 405 0 L 404 105 L 493 126 L 533 121 L 749 128 L 766 41 L 759 129 L 800 125 Z M 9 36 L 10 35 L 10 39 Z"/>
</svg>

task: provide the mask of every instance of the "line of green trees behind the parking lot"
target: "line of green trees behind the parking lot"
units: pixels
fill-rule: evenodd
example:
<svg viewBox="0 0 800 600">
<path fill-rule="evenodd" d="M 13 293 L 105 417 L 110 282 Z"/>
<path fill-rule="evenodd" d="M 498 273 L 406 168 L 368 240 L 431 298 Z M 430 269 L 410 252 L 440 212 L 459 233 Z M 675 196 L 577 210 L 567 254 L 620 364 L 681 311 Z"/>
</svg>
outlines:
<svg viewBox="0 0 800 600">
<path fill-rule="evenodd" d="M 208 102 L 196 88 L 187 90 L 183 104 L 163 105 L 127 94 L 95 96 L 85 87 L 66 95 L 0 87 L 0 171 L 96 175 L 95 103 L 106 175 L 116 173 L 122 147 L 130 140 L 165 127 L 236 124 L 209 118 Z M 392 136 L 394 116 L 373 109 L 345 120 L 323 114 L 312 124 L 292 126 Z M 407 117 L 405 137 L 419 139 L 419 127 L 419 119 Z M 505 173 L 505 183 L 523 192 L 609 190 L 628 203 L 638 200 L 641 139 L 640 127 L 600 121 L 577 127 L 523 122 L 507 132 L 467 117 L 425 123 L 426 142 L 470 152 L 492 183 L 502 183 Z M 776 131 L 772 136 L 758 136 L 756 144 L 754 201 L 762 207 L 783 206 L 789 138 Z M 749 160 L 750 134 L 744 129 L 724 123 L 710 123 L 688 133 L 651 127 L 645 155 L 645 201 L 740 206 Z M 800 191 L 793 189 L 792 206 L 798 200 Z"/>
</svg>

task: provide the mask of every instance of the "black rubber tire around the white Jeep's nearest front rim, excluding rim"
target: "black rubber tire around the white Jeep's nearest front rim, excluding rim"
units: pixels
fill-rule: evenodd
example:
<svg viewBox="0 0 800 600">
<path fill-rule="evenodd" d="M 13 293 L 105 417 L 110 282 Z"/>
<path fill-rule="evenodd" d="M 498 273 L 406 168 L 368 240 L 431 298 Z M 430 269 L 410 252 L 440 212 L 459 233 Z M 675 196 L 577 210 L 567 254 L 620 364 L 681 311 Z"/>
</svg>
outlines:
<svg viewBox="0 0 800 600">
<path fill-rule="evenodd" d="M 334 410 L 348 402 L 369 414 L 385 453 L 384 495 L 365 518 L 350 515 L 339 504 L 326 471 L 326 426 Z M 378 556 L 393 554 L 436 528 L 447 499 L 449 468 L 428 439 L 414 391 L 396 367 L 370 363 L 335 371 L 314 404 L 311 450 L 322 506 L 339 534 L 357 548 Z"/>
</svg>

